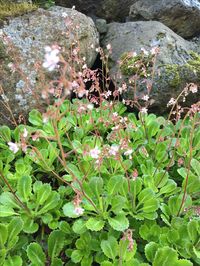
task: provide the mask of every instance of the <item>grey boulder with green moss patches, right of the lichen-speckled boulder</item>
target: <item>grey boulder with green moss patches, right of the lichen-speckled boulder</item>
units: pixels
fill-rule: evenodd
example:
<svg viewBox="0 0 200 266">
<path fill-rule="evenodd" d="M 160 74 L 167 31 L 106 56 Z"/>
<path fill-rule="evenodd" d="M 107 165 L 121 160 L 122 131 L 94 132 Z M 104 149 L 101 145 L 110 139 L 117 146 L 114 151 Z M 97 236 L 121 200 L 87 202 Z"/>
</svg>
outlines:
<svg viewBox="0 0 200 266">
<path fill-rule="evenodd" d="M 120 85 L 123 81 L 128 84 L 129 78 L 136 73 L 134 70 L 134 55 L 131 61 L 124 60 L 125 64 L 119 62 L 122 58 L 128 58 L 136 52 L 138 59 L 141 57 L 141 48 L 150 51 L 152 45 L 159 43 L 160 53 L 155 65 L 155 76 L 151 99 L 152 110 L 157 113 L 166 111 L 167 102 L 170 98 L 176 98 L 186 83 L 200 81 L 200 56 L 191 51 L 194 44 L 184 40 L 168 27 L 156 21 L 140 21 L 127 23 L 110 23 L 108 32 L 103 39 L 103 47 L 111 44 L 112 54 L 110 56 L 110 75 Z M 152 71 L 152 66 L 149 65 Z M 119 73 L 119 74 L 117 74 Z M 140 75 L 140 74 L 139 74 Z M 122 76 L 122 78 L 120 78 Z M 147 80 L 150 77 L 147 77 Z M 137 96 L 147 94 L 146 78 L 139 79 Z M 124 99 L 133 99 L 133 87 L 128 86 Z M 197 99 L 191 99 L 192 103 Z"/>
</svg>

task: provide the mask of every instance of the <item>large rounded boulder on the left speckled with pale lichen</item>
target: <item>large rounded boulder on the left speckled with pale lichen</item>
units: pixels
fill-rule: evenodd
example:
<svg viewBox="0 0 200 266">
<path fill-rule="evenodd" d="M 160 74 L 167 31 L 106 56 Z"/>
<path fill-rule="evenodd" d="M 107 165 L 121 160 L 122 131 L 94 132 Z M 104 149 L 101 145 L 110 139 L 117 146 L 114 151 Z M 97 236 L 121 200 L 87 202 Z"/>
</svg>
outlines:
<svg viewBox="0 0 200 266">
<path fill-rule="evenodd" d="M 66 35 L 70 21 L 73 23 L 73 30 Z M 13 43 L 15 51 L 6 52 L 8 45 L 5 45 L 5 38 L 0 34 L 0 85 L 9 99 L 16 118 L 22 113 L 26 116 L 31 109 L 43 103 L 40 95 L 36 95 L 37 101 L 35 99 L 38 73 L 37 66 L 34 65 L 43 62 L 45 46 L 57 44 L 63 48 L 62 54 L 67 55 L 77 40 L 80 45 L 80 56 L 86 58 L 89 67 L 93 65 L 97 56 L 95 49 L 99 47 L 99 34 L 94 22 L 91 18 L 72 9 L 56 6 L 49 10 L 38 9 L 28 15 L 10 19 L 9 24 L 2 30 Z M 23 75 L 19 75 L 17 71 L 12 73 L 8 68 L 8 64 L 15 63 L 16 60 L 17 68 Z M 45 72 L 45 69 L 42 69 Z M 54 72 L 45 72 L 47 80 L 55 77 Z M 24 82 L 26 76 L 28 85 Z M 3 113 L 3 117 L 0 115 L 0 124 L 8 124 L 7 118 L 10 119 L 10 115 L 6 113 L 2 104 L 0 113 Z"/>
</svg>

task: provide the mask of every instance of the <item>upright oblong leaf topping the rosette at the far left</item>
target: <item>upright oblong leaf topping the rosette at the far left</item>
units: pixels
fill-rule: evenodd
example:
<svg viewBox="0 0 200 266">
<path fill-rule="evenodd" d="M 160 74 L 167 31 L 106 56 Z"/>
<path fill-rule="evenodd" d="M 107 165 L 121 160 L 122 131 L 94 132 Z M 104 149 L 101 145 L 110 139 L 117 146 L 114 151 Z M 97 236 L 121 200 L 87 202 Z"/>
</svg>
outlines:
<svg viewBox="0 0 200 266">
<path fill-rule="evenodd" d="M 32 179 L 30 176 L 22 176 L 17 183 L 17 192 L 23 202 L 28 202 L 32 191 Z"/>
</svg>

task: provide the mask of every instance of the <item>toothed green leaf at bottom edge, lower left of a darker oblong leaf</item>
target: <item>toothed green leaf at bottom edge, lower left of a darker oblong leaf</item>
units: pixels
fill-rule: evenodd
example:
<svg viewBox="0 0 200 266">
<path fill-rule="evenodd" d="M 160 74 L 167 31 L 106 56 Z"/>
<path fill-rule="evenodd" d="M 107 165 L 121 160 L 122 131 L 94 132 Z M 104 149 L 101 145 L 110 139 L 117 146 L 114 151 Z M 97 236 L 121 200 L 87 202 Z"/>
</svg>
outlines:
<svg viewBox="0 0 200 266">
<path fill-rule="evenodd" d="M 45 265 L 46 257 L 44 251 L 38 243 L 31 243 L 28 245 L 26 252 L 29 260 L 32 262 L 32 265 Z"/>
</svg>

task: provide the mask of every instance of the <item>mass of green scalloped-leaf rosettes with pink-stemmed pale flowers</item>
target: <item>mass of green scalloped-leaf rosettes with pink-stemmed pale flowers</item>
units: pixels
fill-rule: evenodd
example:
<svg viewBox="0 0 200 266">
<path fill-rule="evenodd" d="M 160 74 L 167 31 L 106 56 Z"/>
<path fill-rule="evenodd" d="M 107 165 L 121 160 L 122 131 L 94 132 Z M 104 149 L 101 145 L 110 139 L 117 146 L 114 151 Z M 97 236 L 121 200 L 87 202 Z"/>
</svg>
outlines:
<svg viewBox="0 0 200 266">
<path fill-rule="evenodd" d="M 200 106 L 179 104 L 197 86 L 170 100 L 168 117 L 148 114 L 150 89 L 138 99 L 134 83 L 134 99 L 119 101 L 126 85 L 111 92 L 107 68 L 89 70 L 77 49 L 81 71 L 64 75 L 69 61 L 46 47 L 43 67 L 61 78 L 42 96 L 54 101 L 0 127 L 0 265 L 199 265 Z M 146 52 L 134 61 L 142 77 Z"/>
</svg>

